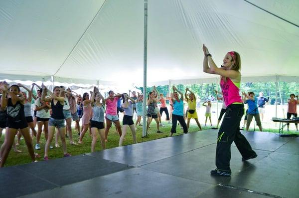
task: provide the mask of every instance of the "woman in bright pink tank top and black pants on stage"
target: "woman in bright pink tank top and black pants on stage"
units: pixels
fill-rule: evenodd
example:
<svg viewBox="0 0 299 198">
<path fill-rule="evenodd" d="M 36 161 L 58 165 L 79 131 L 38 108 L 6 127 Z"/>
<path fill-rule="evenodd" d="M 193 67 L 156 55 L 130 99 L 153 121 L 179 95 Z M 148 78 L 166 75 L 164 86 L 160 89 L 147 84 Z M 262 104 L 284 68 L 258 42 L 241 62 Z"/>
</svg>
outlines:
<svg viewBox="0 0 299 198">
<path fill-rule="evenodd" d="M 214 176 L 231 176 L 230 159 L 231 144 L 235 142 L 242 155 L 242 161 L 256 158 L 258 155 L 252 150 L 246 138 L 240 133 L 240 122 L 244 114 L 244 104 L 239 94 L 241 84 L 241 58 L 235 51 L 228 52 L 221 68 L 212 59 L 208 48 L 202 46 L 204 52 L 203 71 L 221 76 L 222 89 L 226 112 L 218 132 L 216 147 L 216 169 L 211 171 Z"/>
</svg>

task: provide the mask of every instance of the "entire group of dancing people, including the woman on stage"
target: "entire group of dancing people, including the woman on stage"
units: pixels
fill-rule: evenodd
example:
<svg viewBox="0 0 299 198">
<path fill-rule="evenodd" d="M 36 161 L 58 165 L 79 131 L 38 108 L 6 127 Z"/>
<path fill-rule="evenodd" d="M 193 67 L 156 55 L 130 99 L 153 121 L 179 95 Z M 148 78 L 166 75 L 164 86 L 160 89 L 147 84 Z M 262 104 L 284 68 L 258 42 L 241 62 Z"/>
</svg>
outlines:
<svg viewBox="0 0 299 198">
<path fill-rule="evenodd" d="M 240 133 L 240 122 L 243 114 L 245 114 L 245 121 L 243 128 L 246 124 L 246 130 L 249 130 L 250 123 L 255 118 L 257 126 L 262 131 L 261 119 L 265 113 L 265 105 L 268 99 L 259 93 L 259 97 L 255 97 L 255 93 L 242 92 L 240 96 L 240 82 L 241 68 L 240 55 L 231 51 L 225 55 L 222 67 L 218 68 L 209 53 L 206 46 L 203 45 L 204 61 L 203 71 L 210 74 L 220 75 L 221 92 L 215 90 L 217 100 L 222 101 L 222 108 L 220 116 L 217 120 L 218 129 L 220 121 L 224 115 L 222 124 L 220 126 L 217 138 L 216 149 L 216 169 L 211 171 L 212 175 L 230 176 L 231 170 L 229 166 L 230 161 L 230 146 L 234 141 L 238 147 L 242 160 L 249 160 L 256 158 L 257 154 L 252 150 L 246 138 Z M 33 94 L 34 87 L 37 88 L 37 95 Z M 21 89 L 25 91 L 21 91 Z M 147 131 L 149 130 L 150 123 L 154 119 L 156 123 L 156 133 L 163 133 L 160 127 L 163 127 L 161 116 L 163 113 L 166 115 L 166 121 L 172 124 L 169 135 L 172 136 L 176 133 L 177 122 L 183 129 L 183 133 L 188 133 L 190 120 L 193 118 L 199 130 L 202 130 L 198 120 L 196 111 L 196 96 L 189 90 L 185 89 L 183 94 L 175 86 L 172 86 L 172 92 L 167 94 L 166 97 L 162 93 L 158 93 L 155 86 L 144 98 L 143 93 L 136 93 L 129 91 L 127 93 L 115 94 L 113 91 L 108 92 L 108 97 L 105 99 L 97 87 L 94 87 L 89 93 L 84 93 L 83 97 L 73 92 L 70 88 L 65 89 L 63 86 L 55 86 L 53 92 L 43 84 L 38 86 L 33 83 L 29 90 L 22 84 L 13 84 L 9 86 L 5 81 L 0 82 L 0 135 L 2 130 L 5 129 L 4 143 L 0 149 L 0 167 L 3 167 L 7 156 L 14 148 L 18 152 L 16 146 L 19 143 L 21 136 L 24 137 L 28 152 L 32 162 L 36 162 L 35 158 L 39 157 L 35 150 L 40 150 L 40 138 L 42 131 L 46 141 L 44 147 L 44 160 L 48 160 L 49 149 L 54 148 L 51 146 L 54 133 L 55 147 L 60 147 L 58 139 L 61 139 L 63 149 L 63 157 L 69 157 L 67 152 L 66 139 L 69 138 L 71 145 L 84 144 L 83 138 L 86 132 L 90 131 L 92 137 L 91 151 L 95 151 L 95 146 L 100 136 L 102 149 L 106 148 L 108 142 L 109 130 L 112 124 L 115 125 L 116 131 L 120 136 L 119 146 L 123 145 L 123 141 L 130 128 L 133 136 L 133 143 L 137 142 L 136 129 L 142 126 L 141 119 L 144 115 L 143 101 L 146 100 L 147 104 Z M 34 115 L 32 115 L 31 100 L 34 103 Z M 297 98 L 297 99 L 296 99 Z M 166 101 L 169 101 L 169 111 L 166 106 Z M 186 111 L 184 111 L 184 102 L 187 104 Z M 160 108 L 158 108 L 160 103 Z M 290 95 L 288 118 L 293 115 L 297 117 L 297 104 L 298 96 L 295 94 Z M 244 104 L 248 105 L 248 109 L 244 113 Z M 205 101 L 205 126 L 209 119 L 211 121 L 211 107 L 210 100 Z M 120 123 L 120 113 L 123 113 L 122 125 Z M 137 119 L 134 123 L 134 113 Z M 75 130 L 77 131 L 79 141 L 76 142 L 72 135 L 72 120 L 75 122 Z M 80 127 L 81 121 L 81 127 Z M 187 122 L 186 122 L 187 121 Z M 37 131 L 35 126 L 37 124 Z M 298 126 L 296 125 L 296 128 Z M 289 125 L 288 125 L 289 129 Z M 30 134 L 31 130 L 31 134 Z M 298 128 L 297 128 L 298 130 Z M 147 133 L 148 134 L 148 133 Z M 17 143 L 15 143 L 15 136 L 17 135 Z M 36 137 L 36 145 L 33 146 L 32 138 Z M 146 136 L 143 136 L 145 138 Z"/>
</svg>

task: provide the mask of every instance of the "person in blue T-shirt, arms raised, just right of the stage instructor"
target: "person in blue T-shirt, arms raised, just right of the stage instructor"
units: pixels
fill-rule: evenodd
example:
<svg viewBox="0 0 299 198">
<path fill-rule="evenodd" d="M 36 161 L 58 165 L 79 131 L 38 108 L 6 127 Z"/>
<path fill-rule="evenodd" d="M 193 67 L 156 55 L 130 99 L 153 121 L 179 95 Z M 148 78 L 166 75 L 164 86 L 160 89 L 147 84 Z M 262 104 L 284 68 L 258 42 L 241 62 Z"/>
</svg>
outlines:
<svg viewBox="0 0 299 198">
<path fill-rule="evenodd" d="M 247 95 L 245 92 L 243 92 L 243 94 L 245 95 L 246 98 L 248 98 L 248 100 L 244 102 L 245 104 L 248 104 L 246 131 L 248 131 L 253 117 L 255 117 L 255 120 L 257 122 L 257 125 L 259 126 L 260 131 L 262 131 L 262 123 L 261 123 L 259 110 L 257 106 L 258 103 L 257 98 L 254 96 L 253 92 L 249 92 L 249 95 Z"/>
</svg>

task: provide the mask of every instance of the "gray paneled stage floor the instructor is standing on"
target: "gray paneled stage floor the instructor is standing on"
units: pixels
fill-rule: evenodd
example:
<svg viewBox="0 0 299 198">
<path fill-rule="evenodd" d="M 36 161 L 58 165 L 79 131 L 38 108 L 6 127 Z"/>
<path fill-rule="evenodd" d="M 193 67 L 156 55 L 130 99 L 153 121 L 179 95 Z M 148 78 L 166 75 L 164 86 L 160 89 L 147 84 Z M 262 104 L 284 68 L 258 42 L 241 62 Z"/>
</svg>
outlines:
<svg viewBox="0 0 299 198">
<path fill-rule="evenodd" d="M 0 169 L 0 198 L 298 198 L 299 137 L 242 132 L 258 158 L 213 177 L 217 130 Z"/>
</svg>

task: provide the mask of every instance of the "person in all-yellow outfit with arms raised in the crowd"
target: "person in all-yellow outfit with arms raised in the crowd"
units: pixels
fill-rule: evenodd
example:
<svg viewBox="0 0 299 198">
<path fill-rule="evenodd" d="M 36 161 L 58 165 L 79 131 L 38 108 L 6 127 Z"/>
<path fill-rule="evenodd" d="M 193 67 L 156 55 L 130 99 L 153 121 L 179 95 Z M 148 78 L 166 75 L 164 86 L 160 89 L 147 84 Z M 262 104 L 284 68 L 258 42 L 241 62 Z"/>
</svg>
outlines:
<svg viewBox="0 0 299 198">
<path fill-rule="evenodd" d="M 187 96 L 188 91 L 190 92 L 189 98 Z M 191 118 L 194 118 L 199 130 L 201 131 L 201 126 L 199 124 L 198 116 L 197 116 L 197 112 L 196 112 L 196 97 L 195 97 L 194 93 L 188 89 L 188 87 L 186 87 L 185 100 L 188 103 L 187 129 L 189 129 Z"/>
</svg>

